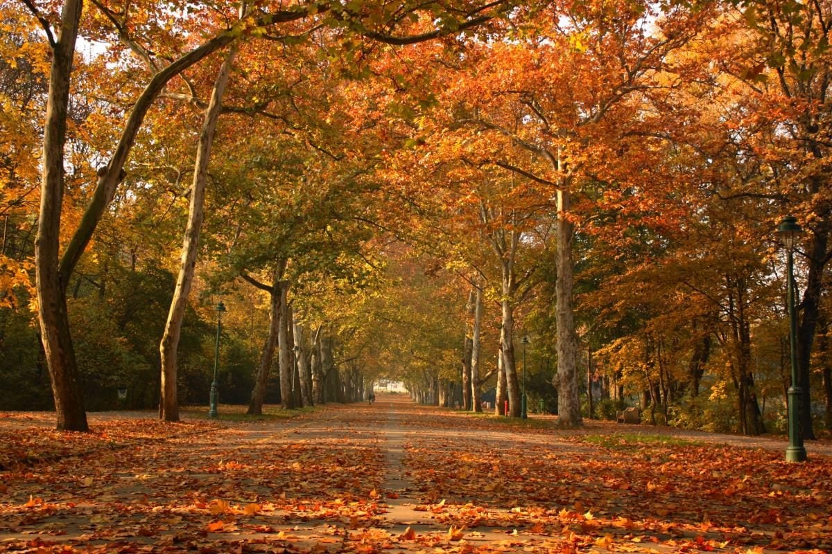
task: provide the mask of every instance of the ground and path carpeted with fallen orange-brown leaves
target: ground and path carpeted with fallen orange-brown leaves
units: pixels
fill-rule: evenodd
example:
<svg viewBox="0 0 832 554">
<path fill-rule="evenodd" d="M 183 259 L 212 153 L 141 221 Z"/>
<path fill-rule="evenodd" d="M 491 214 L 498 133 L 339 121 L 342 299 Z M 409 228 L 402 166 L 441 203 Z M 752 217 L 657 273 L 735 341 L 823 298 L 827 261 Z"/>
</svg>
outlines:
<svg viewBox="0 0 832 554">
<path fill-rule="evenodd" d="M 93 416 L 92 434 L 32 417 L 0 418 L 0 551 L 832 548 L 832 463 L 817 455 L 788 464 L 403 402 L 257 421 Z"/>
</svg>

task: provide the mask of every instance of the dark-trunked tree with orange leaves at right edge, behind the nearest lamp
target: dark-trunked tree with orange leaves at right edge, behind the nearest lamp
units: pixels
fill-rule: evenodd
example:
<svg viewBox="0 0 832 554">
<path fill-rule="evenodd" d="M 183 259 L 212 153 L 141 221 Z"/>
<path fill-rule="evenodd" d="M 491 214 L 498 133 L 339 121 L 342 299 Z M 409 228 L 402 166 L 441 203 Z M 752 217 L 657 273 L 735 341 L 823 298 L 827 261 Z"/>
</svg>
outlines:
<svg viewBox="0 0 832 554">
<path fill-rule="evenodd" d="M 721 21 L 711 59 L 735 92 L 740 129 L 750 153 L 765 166 L 758 194 L 778 199 L 785 211 L 800 214 L 808 228 L 806 286 L 800 302 L 798 361 L 803 409 L 801 429 L 814 439 L 811 405 L 811 353 L 820 321 L 824 270 L 832 257 L 832 211 L 828 190 L 832 76 L 832 7 L 825 2 L 724 2 L 731 17 Z M 741 119 L 740 119 L 741 118 Z M 772 228 L 774 227 L 772 222 Z"/>
</svg>

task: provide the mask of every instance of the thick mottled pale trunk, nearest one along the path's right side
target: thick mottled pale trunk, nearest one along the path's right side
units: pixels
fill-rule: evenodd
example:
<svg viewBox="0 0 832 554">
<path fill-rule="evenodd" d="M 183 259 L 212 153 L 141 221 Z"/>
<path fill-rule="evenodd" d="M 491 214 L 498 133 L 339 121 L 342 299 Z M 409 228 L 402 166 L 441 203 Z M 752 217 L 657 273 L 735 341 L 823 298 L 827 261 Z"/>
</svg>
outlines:
<svg viewBox="0 0 832 554">
<path fill-rule="evenodd" d="M 577 427 L 582 424 L 581 399 L 577 386 L 577 337 L 572 305 L 572 238 L 569 221 L 571 198 L 568 189 L 557 191 L 557 278 L 555 281 L 557 325 L 557 425 Z"/>
</svg>

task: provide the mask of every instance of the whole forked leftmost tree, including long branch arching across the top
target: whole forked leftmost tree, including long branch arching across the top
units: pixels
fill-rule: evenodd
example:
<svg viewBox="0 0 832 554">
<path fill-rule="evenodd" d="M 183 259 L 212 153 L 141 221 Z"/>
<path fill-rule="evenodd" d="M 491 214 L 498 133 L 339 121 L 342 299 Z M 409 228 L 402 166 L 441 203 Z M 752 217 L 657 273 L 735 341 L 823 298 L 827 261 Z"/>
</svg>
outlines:
<svg viewBox="0 0 832 554">
<path fill-rule="evenodd" d="M 138 56 L 148 61 L 151 75 L 141 94 L 131 102 L 130 113 L 121 131 L 118 145 L 111 150 L 108 162 L 102 166 L 97 174 L 94 186 L 95 192 L 87 206 L 81 222 L 72 235 L 67 247 L 61 252 L 61 215 L 63 209 L 63 194 L 66 188 L 64 179 L 64 145 L 67 135 L 67 105 L 70 97 L 70 86 L 73 76 L 73 57 L 76 51 L 78 33 L 81 29 L 83 3 L 81 0 L 67 0 L 62 5 L 62 12 L 57 18 L 57 24 L 52 24 L 52 14 L 42 13 L 34 3 L 27 2 L 34 17 L 41 22 L 43 32 L 52 50 L 52 66 L 49 75 L 49 91 L 47 94 L 47 111 L 45 115 L 43 136 L 43 162 L 41 185 L 41 209 L 36 240 L 35 272 L 37 277 L 38 317 L 42 328 L 42 341 L 46 352 L 47 364 L 52 377 L 52 390 L 57 409 L 58 429 L 87 430 L 87 418 L 83 408 L 82 392 L 77 380 L 77 361 L 72 349 L 72 337 L 67 316 L 67 282 L 78 260 L 87 248 L 92 234 L 105 213 L 107 206 L 115 194 L 116 187 L 125 177 L 124 167 L 136 135 L 141 129 L 147 110 L 150 109 L 166 84 L 175 76 L 181 75 L 188 67 L 210 56 L 213 52 L 234 42 L 237 38 L 251 34 L 265 34 L 270 28 L 289 22 L 308 22 L 310 27 L 323 24 L 325 26 L 348 28 L 350 32 L 368 37 L 377 42 L 392 44 L 406 44 L 440 37 L 448 33 L 461 32 L 487 22 L 495 13 L 503 9 L 498 2 L 485 6 L 463 7 L 461 17 L 457 13 L 446 12 L 438 4 L 431 2 L 428 6 L 411 7 L 404 4 L 405 12 L 431 12 L 439 8 L 439 12 L 447 14 L 441 17 L 439 27 L 428 30 L 419 29 L 412 36 L 394 36 L 390 32 L 389 23 L 393 30 L 406 25 L 399 20 L 390 21 L 387 18 L 379 20 L 374 5 L 364 5 L 360 12 L 355 12 L 352 5 L 344 6 L 339 2 L 314 2 L 292 7 L 288 10 L 275 12 L 253 12 L 251 17 L 234 22 L 233 16 L 228 21 L 233 22 L 230 28 L 217 32 L 197 47 L 185 46 L 186 53 L 175 54 L 169 59 L 174 61 L 162 66 L 162 57 L 156 57 L 151 47 L 144 47 L 128 32 L 126 25 L 130 14 L 124 12 L 121 19 L 116 14 L 98 5 L 102 9 L 105 20 L 114 25 L 120 38 L 126 46 Z M 135 9 L 151 9 L 143 3 L 137 3 Z M 425 9 L 427 8 L 427 9 Z M 159 9 L 159 8 L 157 8 Z M 495 11 L 496 10 L 496 11 Z M 199 10 L 197 10 L 199 12 Z M 210 12 L 210 10 L 208 10 Z M 394 13 L 384 12 L 384 13 Z M 433 9 L 433 17 L 436 17 Z M 166 19 L 166 18 L 160 18 Z M 158 21 L 158 20 L 157 20 Z M 399 23 L 399 25 L 397 25 Z M 199 22 L 199 32 L 205 32 L 205 22 Z M 159 26 L 162 28 L 163 26 Z M 307 27 L 308 28 L 308 27 Z M 57 31 L 56 31 L 57 30 Z M 289 29 L 287 29 L 288 31 Z M 176 32 L 180 31 L 179 28 Z M 292 31 L 295 31 L 293 29 Z M 304 29 L 297 29 L 301 34 Z M 171 37 L 176 33 L 171 32 Z M 190 33 L 182 33 L 184 44 L 193 38 Z M 181 44 L 182 42 L 175 42 Z"/>
</svg>

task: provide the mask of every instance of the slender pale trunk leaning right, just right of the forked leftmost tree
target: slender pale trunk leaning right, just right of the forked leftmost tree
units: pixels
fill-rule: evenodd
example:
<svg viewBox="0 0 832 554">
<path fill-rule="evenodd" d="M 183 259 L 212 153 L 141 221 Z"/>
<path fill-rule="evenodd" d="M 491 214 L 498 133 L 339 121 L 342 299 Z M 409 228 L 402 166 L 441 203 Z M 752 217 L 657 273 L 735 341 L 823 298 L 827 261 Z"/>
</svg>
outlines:
<svg viewBox="0 0 832 554">
<path fill-rule="evenodd" d="M 208 180 L 208 160 L 217 121 L 220 119 L 222 95 L 231 65 L 234 62 L 236 47 L 232 47 L 225 56 L 220 74 L 211 91 L 210 101 L 206 109 L 205 122 L 202 125 L 200 144 L 196 149 L 196 163 L 194 179 L 191 184 L 191 204 L 188 208 L 188 224 L 185 238 L 182 241 L 182 256 L 179 275 L 176 277 L 176 289 L 171 299 L 171 309 L 165 322 L 165 332 L 159 345 L 161 355 L 161 402 L 159 404 L 159 419 L 179 421 L 179 399 L 176 394 L 176 355 L 179 350 L 179 337 L 182 331 L 182 320 L 188 305 L 188 295 L 191 293 L 194 272 L 196 271 L 196 253 L 200 242 L 202 220 L 205 217 L 205 192 Z"/>
</svg>

